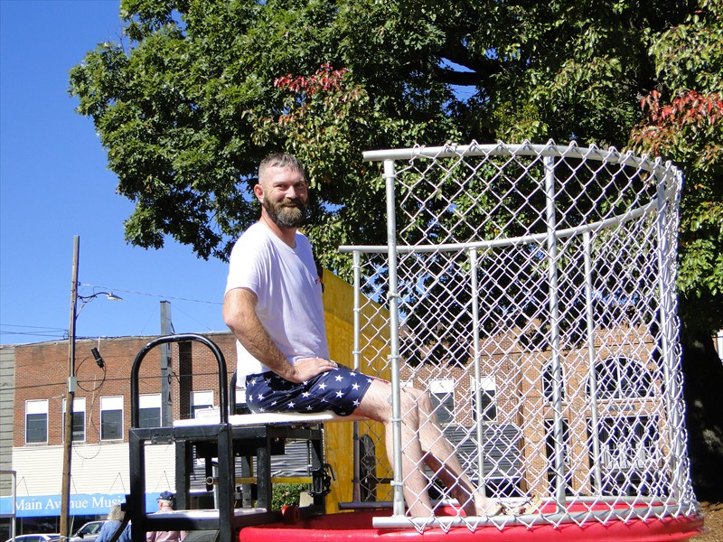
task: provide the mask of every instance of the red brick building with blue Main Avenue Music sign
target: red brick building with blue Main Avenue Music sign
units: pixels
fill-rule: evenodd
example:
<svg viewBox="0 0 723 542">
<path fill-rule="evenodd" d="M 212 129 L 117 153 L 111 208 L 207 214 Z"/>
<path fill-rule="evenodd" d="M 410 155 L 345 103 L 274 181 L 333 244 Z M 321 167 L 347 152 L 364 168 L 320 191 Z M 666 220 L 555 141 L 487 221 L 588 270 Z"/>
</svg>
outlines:
<svg viewBox="0 0 723 542">
<path fill-rule="evenodd" d="M 235 369 L 229 332 L 204 334 Z M 104 516 L 128 487 L 127 429 L 130 426 L 130 372 L 139 350 L 155 337 L 76 341 L 78 388 L 73 401 L 71 514 L 79 520 Z M 97 348 L 103 367 L 90 351 Z M 218 364 L 211 350 L 192 342 L 171 347 L 170 396 L 173 419 L 219 405 Z M 19 518 L 56 517 L 60 510 L 63 418 L 68 379 L 68 341 L 14 347 L 14 438 Z M 230 376 L 230 375 L 229 375 Z M 140 424 L 158 426 L 162 407 L 161 349 L 143 361 L 139 378 Z M 174 451 L 154 446 L 148 455 L 148 500 L 174 489 Z M 80 517 L 80 518 L 78 518 Z M 26 521 L 28 527 L 32 520 Z"/>
</svg>

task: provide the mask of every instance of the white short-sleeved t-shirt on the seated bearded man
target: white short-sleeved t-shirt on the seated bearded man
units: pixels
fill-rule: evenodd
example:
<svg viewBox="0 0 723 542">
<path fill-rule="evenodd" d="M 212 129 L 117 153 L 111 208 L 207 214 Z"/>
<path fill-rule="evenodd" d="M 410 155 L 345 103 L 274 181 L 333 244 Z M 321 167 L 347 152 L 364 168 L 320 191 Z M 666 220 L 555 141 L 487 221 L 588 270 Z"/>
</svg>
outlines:
<svg viewBox="0 0 723 542">
<path fill-rule="evenodd" d="M 258 319 L 289 363 L 329 358 L 321 279 L 303 234 L 296 233 L 296 248 L 290 248 L 261 222 L 247 229 L 231 250 L 226 292 L 234 288 L 256 294 Z M 239 387 L 246 375 L 269 370 L 239 341 L 236 350 Z"/>
</svg>

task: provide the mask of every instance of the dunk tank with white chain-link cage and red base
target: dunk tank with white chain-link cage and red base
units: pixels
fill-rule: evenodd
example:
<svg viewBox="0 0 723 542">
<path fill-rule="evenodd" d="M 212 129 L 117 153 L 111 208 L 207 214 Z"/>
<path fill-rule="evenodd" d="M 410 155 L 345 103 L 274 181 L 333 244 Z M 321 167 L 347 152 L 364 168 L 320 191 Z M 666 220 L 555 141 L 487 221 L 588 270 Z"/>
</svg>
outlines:
<svg viewBox="0 0 723 542">
<path fill-rule="evenodd" d="M 681 173 L 646 156 L 553 142 L 364 158 L 380 163 L 388 240 L 340 248 L 354 277 L 349 346 L 355 369 L 392 384 L 390 430 L 326 424 L 324 462 L 353 456 L 352 476 L 335 482 L 344 496 L 334 513 L 288 509 L 234 537 L 687 540 L 700 532 L 676 315 Z M 439 472 L 419 464 L 435 513 L 408 515 L 399 468 L 407 386 L 427 390 L 468 478 L 502 513 L 466 516 Z M 350 438 L 334 435 L 351 424 Z"/>
</svg>

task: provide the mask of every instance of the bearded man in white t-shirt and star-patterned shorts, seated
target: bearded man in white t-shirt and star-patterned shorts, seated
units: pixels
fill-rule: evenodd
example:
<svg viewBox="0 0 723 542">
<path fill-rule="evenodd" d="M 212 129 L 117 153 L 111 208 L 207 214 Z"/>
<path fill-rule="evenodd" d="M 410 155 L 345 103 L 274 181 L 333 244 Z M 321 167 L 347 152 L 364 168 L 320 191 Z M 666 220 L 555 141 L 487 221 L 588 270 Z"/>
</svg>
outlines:
<svg viewBox="0 0 723 542">
<path fill-rule="evenodd" d="M 297 231 L 305 218 L 308 185 L 302 164 L 272 154 L 258 167 L 254 194 L 261 217 L 239 238 L 230 257 L 223 317 L 237 338 L 239 369 L 253 412 L 319 412 L 364 416 L 385 426 L 391 461 L 391 386 L 329 360 L 322 285 L 309 240 Z M 474 489 L 437 425 L 426 392 L 401 393 L 403 493 L 412 517 L 434 510 L 422 463 L 437 473 L 470 516 L 502 506 Z"/>
</svg>

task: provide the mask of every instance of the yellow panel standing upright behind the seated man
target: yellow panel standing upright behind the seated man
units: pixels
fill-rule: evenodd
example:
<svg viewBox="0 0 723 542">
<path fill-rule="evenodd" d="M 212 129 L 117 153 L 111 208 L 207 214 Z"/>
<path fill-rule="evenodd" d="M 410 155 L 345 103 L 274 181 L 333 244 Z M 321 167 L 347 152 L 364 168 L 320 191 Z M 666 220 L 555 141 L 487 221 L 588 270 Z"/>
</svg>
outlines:
<svg viewBox="0 0 723 542">
<path fill-rule="evenodd" d="M 371 360 L 371 367 L 363 367 L 362 372 L 371 372 L 371 374 L 380 376 L 381 378 L 390 378 L 386 367 L 386 358 L 389 355 L 389 332 L 385 325 L 388 321 L 388 313 L 386 311 L 372 313 L 379 309 L 379 305 L 372 307 L 368 302 L 364 303 L 367 308 L 362 309 L 362 320 L 376 319 L 373 322 L 374 329 L 384 330 L 384 335 L 373 341 L 372 348 L 380 351 L 381 354 Z M 354 366 L 353 347 L 354 347 L 354 291 L 352 285 L 345 283 L 342 279 L 334 276 L 329 271 L 324 271 L 324 315 L 326 322 L 326 332 L 329 341 L 329 350 L 332 359 L 337 363 L 341 363 L 348 367 Z M 364 422 L 361 424 L 366 430 L 370 424 Z M 376 435 L 383 435 L 384 430 L 381 424 L 371 424 L 371 431 Z M 332 492 L 326 498 L 326 509 L 328 512 L 339 511 L 339 502 L 349 502 L 352 500 L 352 479 L 354 475 L 353 466 L 353 423 L 333 423 L 324 425 L 324 444 L 326 454 L 326 462 L 333 466 L 336 480 L 332 482 Z M 388 472 L 389 463 L 387 463 L 386 453 L 383 440 L 376 446 L 376 455 L 378 463 L 380 462 L 380 470 Z M 387 496 L 383 494 L 384 487 L 379 488 L 378 498 L 386 500 Z"/>
</svg>

